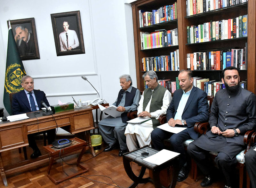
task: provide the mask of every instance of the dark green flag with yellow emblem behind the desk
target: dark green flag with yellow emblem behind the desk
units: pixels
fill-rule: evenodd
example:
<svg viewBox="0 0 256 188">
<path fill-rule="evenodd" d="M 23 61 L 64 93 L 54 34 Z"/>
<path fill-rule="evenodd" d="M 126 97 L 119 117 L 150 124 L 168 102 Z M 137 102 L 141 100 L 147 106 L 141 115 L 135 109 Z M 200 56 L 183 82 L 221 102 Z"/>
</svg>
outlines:
<svg viewBox="0 0 256 188">
<path fill-rule="evenodd" d="M 20 54 L 14 40 L 12 28 L 9 28 L 6 68 L 4 77 L 4 107 L 9 114 L 12 114 L 9 93 L 23 90 L 21 78 L 26 75 Z"/>
</svg>

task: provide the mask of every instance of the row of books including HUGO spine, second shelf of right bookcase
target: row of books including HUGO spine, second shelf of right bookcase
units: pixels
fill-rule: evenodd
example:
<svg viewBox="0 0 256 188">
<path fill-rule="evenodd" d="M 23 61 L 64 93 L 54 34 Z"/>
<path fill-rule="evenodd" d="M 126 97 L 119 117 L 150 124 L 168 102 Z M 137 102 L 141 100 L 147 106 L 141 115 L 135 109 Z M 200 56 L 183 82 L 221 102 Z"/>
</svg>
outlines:
<svg viewBox="0 0 256 188">
<path fill-rule="evenodd" d="M 247 36 L 247 15 L 187 26 L 187 42 L 202 43 Z"/>
</svg>

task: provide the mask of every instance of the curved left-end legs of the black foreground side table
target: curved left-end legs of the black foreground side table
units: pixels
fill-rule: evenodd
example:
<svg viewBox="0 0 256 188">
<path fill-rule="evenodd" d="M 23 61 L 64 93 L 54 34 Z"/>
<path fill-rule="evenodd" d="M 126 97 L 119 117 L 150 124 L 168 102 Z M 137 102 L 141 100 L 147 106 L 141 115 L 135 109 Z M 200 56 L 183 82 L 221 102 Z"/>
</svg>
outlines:
<svg viewBox="0 0 256 188">
<path fill-rule="evenodd" d="M 130 161 L 123 156 L 124 169 L 127 175 L 131 178 L 133 183 L 128 188 L 135 188 L 138 184 L 145 184 L 149 181 L 148 178 L 143 178 L 146 167 L 141 167 L 139 176 L 136 176 L 130 166 Z"/>
</svg>

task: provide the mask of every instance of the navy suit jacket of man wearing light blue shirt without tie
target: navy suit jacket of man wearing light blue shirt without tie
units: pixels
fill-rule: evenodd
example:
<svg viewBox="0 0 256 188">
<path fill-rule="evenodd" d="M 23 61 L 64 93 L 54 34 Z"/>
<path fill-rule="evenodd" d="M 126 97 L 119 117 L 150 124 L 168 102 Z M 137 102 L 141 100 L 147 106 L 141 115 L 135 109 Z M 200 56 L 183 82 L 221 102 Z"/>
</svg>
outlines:
<svg viewBox="0 0 256 188">
<path fill-rule="evenodd" d="M 173 93 L 172 102 L 166 111 L 167 121 L 174 118 L 182 95 L 182 89 L 176 90 Z M 203 90 L 200 90 L 195 86 L 192 88 L 181 117 L 187 123 L 185 127 L 188 127 L 186 130 L 190 137 L 193 139 L 198 138 L 199 134 L 194 131 L 195 123 L 198 121 L 207 121 L 209 117 L 207 95 Z"/>
</svg>

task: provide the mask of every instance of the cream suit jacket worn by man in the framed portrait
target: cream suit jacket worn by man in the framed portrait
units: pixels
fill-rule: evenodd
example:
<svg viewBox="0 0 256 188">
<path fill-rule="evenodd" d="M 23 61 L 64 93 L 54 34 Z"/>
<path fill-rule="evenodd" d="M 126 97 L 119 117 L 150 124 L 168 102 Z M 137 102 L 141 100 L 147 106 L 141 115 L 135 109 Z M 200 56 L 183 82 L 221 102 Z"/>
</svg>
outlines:
<svg viewBox="0 0 256 188">
<path fill-rule="evenodd" d="M 76 47 L 79 46 L 79 40 L 76 35 L 76 31 L 74 30 L 68 30 L 68 44 L 67 44 L 67 36 L 66 32 L 63 31 L 60 33 L 60 51 L 67 51 L 68 47 L 72 47 L 75 49 Z"/>
</svg>

